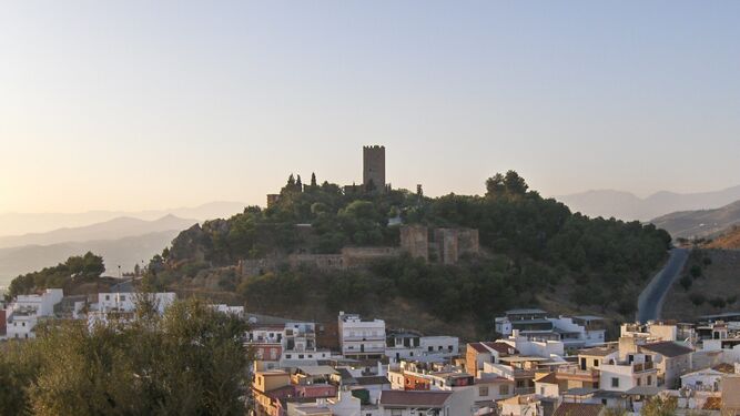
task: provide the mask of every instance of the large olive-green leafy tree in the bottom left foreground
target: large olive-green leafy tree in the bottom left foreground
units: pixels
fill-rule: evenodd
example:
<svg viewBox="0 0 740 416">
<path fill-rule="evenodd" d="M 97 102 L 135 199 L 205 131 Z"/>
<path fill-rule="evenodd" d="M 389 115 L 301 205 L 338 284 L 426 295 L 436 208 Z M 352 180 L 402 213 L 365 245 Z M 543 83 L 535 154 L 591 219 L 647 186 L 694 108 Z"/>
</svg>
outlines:
<svg viewBox="0 0 740 416">
<path fill-rule="evenodd" d="M 2 345 L 0 414 L 245 414 L 244 321 L 195 300 L 163 317 L 138 313 L 125 325 L 63 323 Z"/>
</svg>

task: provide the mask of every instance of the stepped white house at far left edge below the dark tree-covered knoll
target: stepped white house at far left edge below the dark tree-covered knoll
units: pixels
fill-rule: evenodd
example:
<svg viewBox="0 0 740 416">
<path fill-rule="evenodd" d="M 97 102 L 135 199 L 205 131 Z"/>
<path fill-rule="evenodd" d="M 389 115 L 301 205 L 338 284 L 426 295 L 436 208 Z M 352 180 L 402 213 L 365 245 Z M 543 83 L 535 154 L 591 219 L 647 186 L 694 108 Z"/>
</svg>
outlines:
<svg viewBox="0 0 740 416">
<path fill-rule="evenodd" d="M 8 338 L 34 338 L 39 318 L 53 316 L 54 305 L 64 297 L 61 288 L 48 288 L 41 295 L 19 295 L 6 310 Z"/>
</svg>

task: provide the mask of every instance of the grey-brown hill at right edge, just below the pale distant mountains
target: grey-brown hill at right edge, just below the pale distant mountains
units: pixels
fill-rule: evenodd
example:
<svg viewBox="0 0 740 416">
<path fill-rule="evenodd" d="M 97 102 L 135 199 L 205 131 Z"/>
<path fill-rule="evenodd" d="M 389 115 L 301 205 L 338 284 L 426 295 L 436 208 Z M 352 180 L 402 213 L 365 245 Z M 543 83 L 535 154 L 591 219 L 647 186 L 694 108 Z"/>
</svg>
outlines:
<svg viewBox="0 0 740 416">
<path fill-rule="evenodd" d="M 712 237 L 740 224 L 740 201 L 716 210 L 675 212 L 651 221 L 675 239 Z"/>
</svg>

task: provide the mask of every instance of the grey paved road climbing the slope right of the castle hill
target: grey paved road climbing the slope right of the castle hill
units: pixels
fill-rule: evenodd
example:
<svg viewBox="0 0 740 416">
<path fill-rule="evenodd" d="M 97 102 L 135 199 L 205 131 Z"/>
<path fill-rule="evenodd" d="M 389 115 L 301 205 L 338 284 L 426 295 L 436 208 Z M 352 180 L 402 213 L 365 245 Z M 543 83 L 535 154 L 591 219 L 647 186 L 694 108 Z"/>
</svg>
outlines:
<svg viewBox="0 0 740 416">
<path fill-rule="evenodd" d="M 652 277 L 638 297 L 636 316 L 638 322 L 645 323 L 660 317 L 666 294 L 678 278 L 688 257 L 689 251 L 686 248 L 671 250 L 670 257 L 663 268 Z"/>
</svg>

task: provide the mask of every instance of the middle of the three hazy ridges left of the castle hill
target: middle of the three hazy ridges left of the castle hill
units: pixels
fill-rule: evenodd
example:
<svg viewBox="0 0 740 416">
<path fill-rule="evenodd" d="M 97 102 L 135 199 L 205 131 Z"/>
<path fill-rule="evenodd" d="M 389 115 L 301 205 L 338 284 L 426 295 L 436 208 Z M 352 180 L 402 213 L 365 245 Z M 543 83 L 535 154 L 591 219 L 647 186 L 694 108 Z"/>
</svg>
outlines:
<svg viewBox="0 0 740 416">
<path fill-rule="evenodd" d="M 180 219 L 172 214 L 154 221 L 121 216 L 102 223 L 80 227 L 0 237 L 0 248 L 20 247 L 26 245 L 77 243 L 97 240 L 119 240 L 163 231 L 183 230 L 196 222 L 197 221 L 195 220 Z"/>
</svg>

